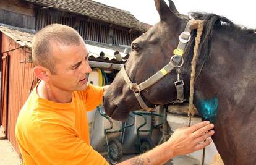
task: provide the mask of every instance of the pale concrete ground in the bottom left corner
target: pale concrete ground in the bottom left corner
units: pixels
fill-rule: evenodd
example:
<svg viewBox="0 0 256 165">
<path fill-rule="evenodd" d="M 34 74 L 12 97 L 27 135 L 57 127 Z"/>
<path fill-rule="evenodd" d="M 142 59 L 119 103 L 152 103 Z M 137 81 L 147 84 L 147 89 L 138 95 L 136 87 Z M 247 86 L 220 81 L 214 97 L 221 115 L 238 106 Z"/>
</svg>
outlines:
<svg viewBox="0 0 256 165">
<path fill-rule="evenodd" d="M 19 155 L 12 147 L 9 140 L 0 140 L 0 164 L 1 165 L 20 165 L 22 164 Z"/>
</svg>

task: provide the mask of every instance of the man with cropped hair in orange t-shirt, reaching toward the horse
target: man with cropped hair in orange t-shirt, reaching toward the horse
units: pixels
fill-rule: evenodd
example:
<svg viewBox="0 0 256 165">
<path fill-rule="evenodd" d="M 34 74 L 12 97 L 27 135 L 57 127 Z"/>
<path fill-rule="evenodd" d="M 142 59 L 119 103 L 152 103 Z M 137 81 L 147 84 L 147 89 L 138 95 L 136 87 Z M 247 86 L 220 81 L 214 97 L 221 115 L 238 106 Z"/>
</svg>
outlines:
<svg viewBox="0 0 256 165">
<path fill-rule="evenodd" d="M 108 164 L 89 142 L 86 113 L 100 103 L 104 88 L 87 83 L 92 69 L 82 37 L 65 25 L 49 25 L 33 38 L 32 57 L 40 82 L 15 129 L 23 164 Z M 202 149 L 211 129 L 209 122 L 179 129 L 168 142 L 121 164 L 163 164 Z"/>
</svg>

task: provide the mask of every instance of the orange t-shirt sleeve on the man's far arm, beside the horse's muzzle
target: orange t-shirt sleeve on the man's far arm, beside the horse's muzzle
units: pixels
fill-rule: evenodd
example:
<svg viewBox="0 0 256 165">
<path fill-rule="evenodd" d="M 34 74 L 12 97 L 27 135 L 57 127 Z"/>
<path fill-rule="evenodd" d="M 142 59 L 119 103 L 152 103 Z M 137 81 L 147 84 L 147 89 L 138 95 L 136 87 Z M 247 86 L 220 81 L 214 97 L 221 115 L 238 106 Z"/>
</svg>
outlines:
<svg viewBox="0 0 256 165">
<path fill-rule="evenodd" d="M 86 90 L 85 104 L 87 111 L 92 111 L 103 99 L 103 87 L 98 87 L 88 83 Z"/>
</svg>

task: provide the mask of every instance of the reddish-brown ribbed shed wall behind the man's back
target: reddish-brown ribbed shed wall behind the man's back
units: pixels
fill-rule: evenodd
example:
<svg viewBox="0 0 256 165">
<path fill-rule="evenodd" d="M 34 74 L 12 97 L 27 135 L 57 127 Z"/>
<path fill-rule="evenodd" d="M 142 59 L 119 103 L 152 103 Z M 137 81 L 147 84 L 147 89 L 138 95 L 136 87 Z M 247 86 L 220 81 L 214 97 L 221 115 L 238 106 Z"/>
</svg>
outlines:
<svg viewBox="0 0 256 165">
<path fill-rule="evenodd" d="M 12 49 L 15 50 L 9 51 Z M 6 78 L 3 78 L 7 90 L 3 98 L 4 103 L 7 103 L 4 105 L 7 110 L 7 138 L 17 153 L 20 153 L 15 140 L 15 124 L 20 109 L 28 98 L 30 89 L 35 87 L 36 77 L 33 75 L 33 64 L 24 62 L 25 58 L 31 54 L 30 48 L 20 47 L 20 44 L 16 43 L 15 40 L 3 34 L 1 51 L 9 51 L 2 54 L 2 56 L 7 56 L 9 59 L 9 66 L 6 67 L 9 74 L 6 74 Z"/>
</svg>

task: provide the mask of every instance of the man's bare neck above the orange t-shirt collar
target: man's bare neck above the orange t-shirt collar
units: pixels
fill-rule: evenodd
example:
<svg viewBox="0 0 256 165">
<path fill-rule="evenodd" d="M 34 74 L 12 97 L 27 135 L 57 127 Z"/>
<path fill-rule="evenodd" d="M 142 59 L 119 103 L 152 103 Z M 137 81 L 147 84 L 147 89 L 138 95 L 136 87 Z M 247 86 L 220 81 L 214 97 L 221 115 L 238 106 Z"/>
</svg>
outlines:
<svg viewBox="0 0 256 165">
<path fill-rule="evenodd" d="M 43 80 L 39 82 L 36 92 L 40 98 L 48 99 L 49 101 L 54 101 L 56 103 L 70 103 L 72 101 L 71 92 L 63 91 Z"/>
</svg>

